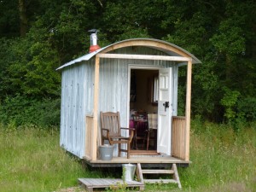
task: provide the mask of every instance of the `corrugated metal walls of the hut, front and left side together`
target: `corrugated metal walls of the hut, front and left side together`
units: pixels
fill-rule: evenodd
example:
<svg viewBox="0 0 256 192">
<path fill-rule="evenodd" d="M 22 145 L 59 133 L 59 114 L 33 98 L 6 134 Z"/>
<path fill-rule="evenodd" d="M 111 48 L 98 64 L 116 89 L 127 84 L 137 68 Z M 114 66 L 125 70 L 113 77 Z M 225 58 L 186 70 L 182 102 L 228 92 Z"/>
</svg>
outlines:
<svg viewBox="0 0 256 192">
<path fill-rule="evenodd" d="M 140 55 L 166 55 L 148 47 L 127 47 L 114 53 Z M 119 111 L 121 126 L 127 122 L 128 69 L 129 65 L 173 67 L 173 82 L 177 82 L 177 65 L 172 61 L 101 59 L 99 112 Z M 61 76 L 61 141 L 63 148 L 83 158 L 85 138 L 85 115 L 93 111 L 95 59 L 65 67 Z M 176 87 L 175 87 L 176 86 Z M 177 85 L 174 85 L 174 114 L 177 113 Z M 176 105 L 176 107 L 175 107 Z M 98 116 L 99 119 L 99 116 Z M 99 122 L 100 128 L 100 122 Z M 100 133 L 100 132 L 99 132 Z M 114 155 L 117 154 L 115 150 Z"/>
</svg>

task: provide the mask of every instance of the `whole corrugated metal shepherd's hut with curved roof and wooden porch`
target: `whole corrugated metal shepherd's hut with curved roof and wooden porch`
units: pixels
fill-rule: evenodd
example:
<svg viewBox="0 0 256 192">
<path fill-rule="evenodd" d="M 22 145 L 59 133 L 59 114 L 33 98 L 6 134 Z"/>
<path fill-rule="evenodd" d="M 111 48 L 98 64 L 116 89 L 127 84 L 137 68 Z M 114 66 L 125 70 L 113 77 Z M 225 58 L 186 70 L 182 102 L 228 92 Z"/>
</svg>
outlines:
<svg viewBox="0 0 256 192">
<path fill-rule="evenodd" d="M 191 72 L 192 65 L 201 61 L 175 44 L 152 38 L 127 39 L 104 48 L 92 43 L 89 54 L 57 69 L 61 71 L 61 147 L 90 166 L 189 164 Z M 183 117 L 177 116 L 182 66 L 187 66 Z M 113 159 L 101 160 L 100 112 L 119 112 L 121 127 L 140 129 L 141 135 L 137 131 L 132 138 L 129 158 L 125 153 L 119 156 L 118 145 L 113 145 Z M 148 138 L 149 113 L 157 122 Z"/>
</svg>

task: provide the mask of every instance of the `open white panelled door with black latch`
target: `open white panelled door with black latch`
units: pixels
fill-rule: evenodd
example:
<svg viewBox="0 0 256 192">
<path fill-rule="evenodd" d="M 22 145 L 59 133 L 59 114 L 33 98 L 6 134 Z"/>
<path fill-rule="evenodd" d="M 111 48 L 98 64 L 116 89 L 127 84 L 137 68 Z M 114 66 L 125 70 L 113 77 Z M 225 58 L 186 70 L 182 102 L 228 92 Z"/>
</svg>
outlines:
<svg viewBox="0 0 256 192">
<path fill-rule="evenodd" d="M 159 71 L 157 152 L 171 155 L 172 68 Z"/>
</svg>

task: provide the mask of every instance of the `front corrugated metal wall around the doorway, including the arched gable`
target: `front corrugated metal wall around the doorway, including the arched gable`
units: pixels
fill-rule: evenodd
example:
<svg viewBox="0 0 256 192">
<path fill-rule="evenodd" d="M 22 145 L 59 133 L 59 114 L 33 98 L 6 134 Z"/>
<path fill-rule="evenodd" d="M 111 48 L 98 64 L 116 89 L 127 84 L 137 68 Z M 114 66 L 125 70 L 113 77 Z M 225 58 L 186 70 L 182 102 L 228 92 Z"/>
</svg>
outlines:
<svg viewBox="0 0 256 192">
<path fill-rule="evenodd" d="M 140 55 L 166 55 L 158 50 L 148 47 L 128 47 L 117 49 L 114 53 L 140 54 Z M 100 95 L 99 95 L 99 112 L 117 112 L 120 113 L 120 125 L 126 127 L 128 121 L 128 70 L 132 66 L 154 66 L 154 67 L 173 67 L 173 73 L 177 73 L 177 65 L 172 61 L 145 61 L 145 60 L 125 60 L 125 59 L 101 59 L 100 61 Z M 172 76 L 174 94 L 172 103 L 177 103 L 177 74 Z M 176 83 L 176 85 L 175 85 Z M 177 104 L 173 105 L 173 113 L 177 113 Z M 100 132 L 100 127 L 99 127 Z M 114 150 L 117 156 L 117 147 Z"/>
</svg>

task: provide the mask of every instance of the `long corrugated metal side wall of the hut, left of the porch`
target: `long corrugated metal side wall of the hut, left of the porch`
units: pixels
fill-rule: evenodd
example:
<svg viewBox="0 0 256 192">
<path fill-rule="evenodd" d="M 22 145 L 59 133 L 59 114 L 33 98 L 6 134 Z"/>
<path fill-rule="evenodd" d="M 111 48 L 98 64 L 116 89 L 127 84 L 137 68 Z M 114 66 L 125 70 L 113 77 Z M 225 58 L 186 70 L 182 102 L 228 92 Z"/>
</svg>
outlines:
<svg viewBox="0 0 256 192">
<path fill-rule="evenodd" d="M 92 113 L 95 61 L 66 67 L 61 75 L 61 140 L 63 148 L 84 156 L 85 114 Z"/>
</svg>

